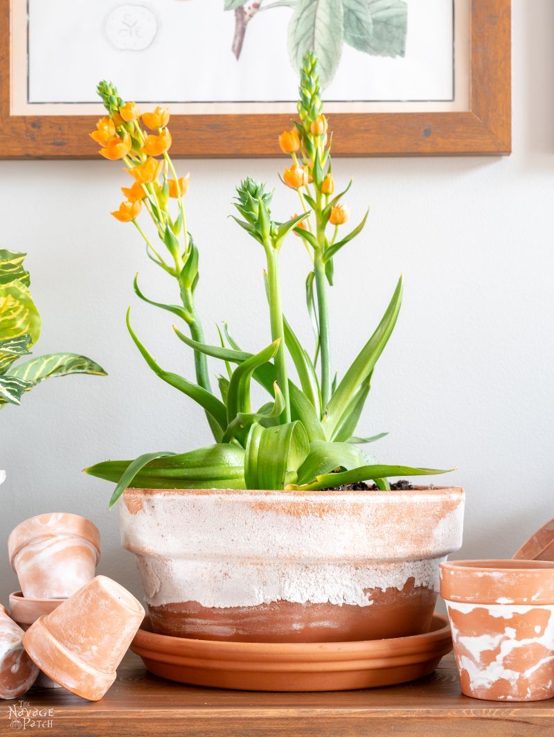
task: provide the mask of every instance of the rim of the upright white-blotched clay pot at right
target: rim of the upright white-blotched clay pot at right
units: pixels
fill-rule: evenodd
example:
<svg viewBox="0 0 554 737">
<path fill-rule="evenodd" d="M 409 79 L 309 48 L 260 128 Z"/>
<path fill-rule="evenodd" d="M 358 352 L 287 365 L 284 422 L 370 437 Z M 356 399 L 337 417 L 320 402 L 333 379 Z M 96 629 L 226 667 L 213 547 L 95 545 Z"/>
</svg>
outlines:
<svg viewBox="0 0 554 737">
<path fill-rule="evenodd" d="M 554 604 L 554 561 L 476 559 L 441 563 L 445 601 L 503 606 Z"/>
</svg>

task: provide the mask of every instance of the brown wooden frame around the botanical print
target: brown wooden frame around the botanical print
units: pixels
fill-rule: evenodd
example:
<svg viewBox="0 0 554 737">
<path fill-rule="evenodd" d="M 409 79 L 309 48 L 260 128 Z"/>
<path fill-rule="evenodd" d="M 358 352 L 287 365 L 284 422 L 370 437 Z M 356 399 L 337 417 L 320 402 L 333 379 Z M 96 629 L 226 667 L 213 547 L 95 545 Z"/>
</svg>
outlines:
<svg viewBox="0 0 554 737">
<path fill-rule="evenodd" d="M 12 112 L 10 7 L 0 0 L 0 158 L 96 158 L 97 116 Z M 18 1 L 18 0 L 15 0 Z M 335 156 L 502 156 L 511 153 L 511 0 L 471 0 L 469 110 L 332 113 Z M 172 156 L 278 156 L 282 113 L 173 115 Z M 255 134 L 253 133 L 255 131 Z"/>
</svg>

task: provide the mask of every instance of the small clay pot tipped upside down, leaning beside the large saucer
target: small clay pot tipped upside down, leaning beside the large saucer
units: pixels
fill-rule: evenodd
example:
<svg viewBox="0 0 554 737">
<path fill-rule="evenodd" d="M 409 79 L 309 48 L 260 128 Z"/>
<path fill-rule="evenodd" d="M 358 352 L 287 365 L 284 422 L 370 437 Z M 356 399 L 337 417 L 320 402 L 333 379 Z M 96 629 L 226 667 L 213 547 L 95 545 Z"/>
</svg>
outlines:
<svg viewBox="0 0 554 737">
<path fill-rule="evenodd" d="M 122 586 L 97 576 L 39 618 L 24 647 L 49 678 L 89 701 L 116 679 L 116 668 L 144 618 L 139 601 Z"/>
</svg>

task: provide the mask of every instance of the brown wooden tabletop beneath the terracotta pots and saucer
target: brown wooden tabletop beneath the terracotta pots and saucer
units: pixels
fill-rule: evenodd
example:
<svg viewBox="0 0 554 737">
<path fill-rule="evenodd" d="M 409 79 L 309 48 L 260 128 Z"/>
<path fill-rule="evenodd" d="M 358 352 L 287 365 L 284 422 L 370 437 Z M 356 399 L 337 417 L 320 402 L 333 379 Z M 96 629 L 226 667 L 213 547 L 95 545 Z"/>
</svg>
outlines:
<svg viewBox="0 0 554 737">
<path fill-rule="evenodd" d="M 435 674 L 406 685 L 325 694 L 268 694 L 180 685 L 147 673 L 127 654 L 108 694 L 86 702 L 62 689 L 32 689 L 24 707 L 32 735 L 67 737 L 522 737 L 554 736 L 554 699 L 527 704 L 460 694 L 452 654 Z M 23 730 L 23 717 L 0 702 L 0 734 Z M 12 724 L 18 721 L 20 724 Z M 48 724 L 48 722 L 51 722 Z"/>
</svg>

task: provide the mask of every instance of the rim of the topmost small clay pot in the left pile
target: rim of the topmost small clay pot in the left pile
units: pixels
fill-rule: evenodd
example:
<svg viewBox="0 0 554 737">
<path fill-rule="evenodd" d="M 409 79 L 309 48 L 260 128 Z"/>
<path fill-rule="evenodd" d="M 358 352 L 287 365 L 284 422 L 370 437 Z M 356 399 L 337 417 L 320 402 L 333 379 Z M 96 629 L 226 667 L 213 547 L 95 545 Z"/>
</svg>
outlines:
<svg viewBox="0 0 554 737">
<path fill-rule="evenodd" d="M 52 534 L 48 534 L 46 528 L 43 528 L 43 520 L 46 522 L 48 517 L 52 515 L 60 515 L 60 520 L 57 528 L 52 529 Z M 39 539 L 44 537 L 56 537 L 57 535 L 77 535 L 87 540 L 96 550 L 97 553 L 97 565 L 100 559 L 100 532 L 97 526 L 87 520 L 86 517 L 82 517 L 80 514 L 73 514 L 69 511 L 62 512 L 45 512 L 44 514 L 36 514 L 34 517 L 29 517 L 27 520 L 19 523 L 10 532 L 10 537 L 7 539 L 8 554 L 10 556 L 10 565 L 13 567 L 13 560 L 15 556 L 33 539 Z"/>
</svg>

